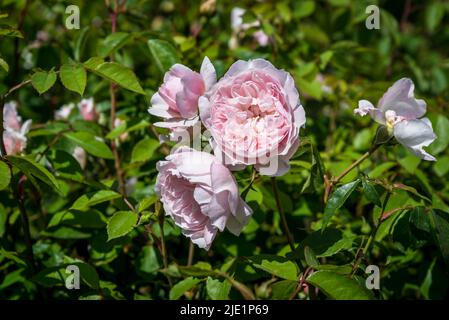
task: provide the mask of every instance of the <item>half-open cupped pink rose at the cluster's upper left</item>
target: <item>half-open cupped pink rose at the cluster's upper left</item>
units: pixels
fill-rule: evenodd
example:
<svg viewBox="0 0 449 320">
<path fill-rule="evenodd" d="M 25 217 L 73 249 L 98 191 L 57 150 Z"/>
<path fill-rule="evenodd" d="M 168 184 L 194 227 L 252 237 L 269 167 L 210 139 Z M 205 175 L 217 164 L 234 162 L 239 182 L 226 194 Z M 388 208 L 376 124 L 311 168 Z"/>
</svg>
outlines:
<svg viewBox="0 0 449 320">
<path fill-rule="evenodd" d="M 164 118 L 154 125 L 172 131 L 194 126 L 198 122 L 198 98 L 217 81 L 215 68 L 205 57 L 200 73 L 175 64 L 164 76 L 164 83 L 151 98 L 148 112 Z"/>
</svg>

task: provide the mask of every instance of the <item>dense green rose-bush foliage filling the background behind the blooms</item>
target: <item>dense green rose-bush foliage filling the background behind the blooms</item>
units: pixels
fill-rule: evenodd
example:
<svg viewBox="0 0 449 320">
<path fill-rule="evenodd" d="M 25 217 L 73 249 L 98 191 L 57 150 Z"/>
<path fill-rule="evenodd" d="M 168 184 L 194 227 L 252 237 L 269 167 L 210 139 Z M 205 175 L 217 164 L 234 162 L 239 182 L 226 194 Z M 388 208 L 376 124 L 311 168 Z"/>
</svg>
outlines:
<svg viewBox="0 0 449 320">
<path fill-rule="evenodd" d="M 80 30 L 64 27 L 65 8 L 71 4 L 80 7 Z M 365 27 L 365 8 L 371 4 L 380 7 L 380 30 Z M 59 70 L 71 61 L 112 55 L 135 72 L 145 95 L 117 89 L 117 115 L 126 120 L 129 131 L 118 150 L 126 179 L 135 183 L 128 190 L 129 201 L 142 209 L 143 219 L 111 241 L 107 241 L 107 222 L 114 213 L 129 211 L 123 197 L 113 192 L 118 190 L 114 161 L 104 154 L 90 154 L 87 167 L 81 170 L 70 156 L 73 139 L 62 133 L 67 128 L 89 132 L 110 143 L 109 82 L 88 72 L 83 97 L 94 97 L 101 112 L 98 124 L 86 123 L 77 114 L 68 123 L 55 122 L 55 110 L 81 99 L 59 80 L 41 95 L 27 85 L 8 98 L 18 101 L 22 118 L 33 120 L 26 154 L 49 169 L 59 191 L 42 181 L 34 186 L 28 179 L 24 184 L 34 265 L 27 254 L 17 197 L 10 190 L 21 175 L 17 168 L 11 186 L 0 191 L 0 298 L 241 299 L 254 295 L 288 299 L 307 267 L 330 270 L 332 277 L 337 276 L 331 278 L 330 287 L 323 287 L 320 279 L 309 281 L 309 287 L 295 298 L 447 298 L 449 3 L 239 1 L 238 6 L 247 9 L 245 21 L 257 17 L 272 42 L 258 46 L 252 37 L 256 28 L 252 28 L 240 34 L 237 48 L 230 49 L 230 12 L 236 5 L 235 1 L 128 0 L 117 22 L 118 31 L 126 34 L 116 43 L 105 41 L 111 40 L 111 21 L 103 1 L 1 1 L 0 14 L 8 13 L 0 20 L 1 29 L 19 29 L 23 35 L 0 34 L 0 57 L 9 65 L 9 72 L 0 69 L 2 94 L 38 69 Z M 47 40 L 36 39 L 40 31 L 48 34 Z M 151 51 L 151 39 L 171 46 L 163 42 L 162 49 Z M 157 119 L 147 113 L 149 97 L 172 62 L 198 70 L 204 56 L 211 59 L 219 76 L 237 59 L 262 57 L 296 80 L 307 127 L 291 171 L 278 179 L 298 245 L 294 253 L 282 231 L 268 178 L 257 179 L 247 195 L 254 216 L 242 235 L 224 232 L 209 252 L 196 249 L 193 267 L 185 267 L 188 239 L 170 220 L 154 214 L 155 164 L 164 158 L 165 149 L 159 147 L 151 125 Z M 427 101 L 438 136 L 428 150 L 438 161 L 421 162 L 400 145 L 381 148 L 342 181 L 365 177 L 366 184 L 376 188 L 374 196 L 372 188 L 360 184 L 321 234 L 323 173 L 341 173 L 370 148 L 376 132 L 370 119 L 353 115 L 357 101 L 376 102 L 401 77 L 412 78 L 416 95 Z M 140 141 L 144 142 L 136 150 Z M 39 156 L 42 152 L 44 156 Z M 250 175 L 250 170 L 237 174 L 241 190 Z M 338 275 L 351 272 L 358 249 L 381 213 L 375 204 L 384 201 L 385 186 L 391 190 L 385 212 L 405 208 L 382 223 L 353 280 L 342 280 L 348 278 Z M 97 198 L 91 202 L 77 200 L 95 193 Z M 305 247 L 312 249 L 306 249 L 306 256 Z M 81 268 L 80 290 L 64 286 L 65 266 L 73 263 Z M 371 294 L 361 289 L 366 264 L 381 270 L 380 290 Z M 322 290 L 316 294 L 312 285 Z"/>
</svg>

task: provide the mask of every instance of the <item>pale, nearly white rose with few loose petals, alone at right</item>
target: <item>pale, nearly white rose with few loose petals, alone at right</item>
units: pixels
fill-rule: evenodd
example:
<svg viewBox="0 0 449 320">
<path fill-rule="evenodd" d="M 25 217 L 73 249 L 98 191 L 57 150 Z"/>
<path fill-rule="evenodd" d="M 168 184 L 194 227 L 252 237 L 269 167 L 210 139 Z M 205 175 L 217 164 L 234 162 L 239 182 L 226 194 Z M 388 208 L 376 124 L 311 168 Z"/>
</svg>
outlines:
<svg viewBox="0 0 449 320">
<path fill-rule="evenodd" d="M 360 100 L 354 112 L 360 116 L 369 114 L 376 122 L 385 125 L 396 140 L 417 157 L 435 161 L 435 157 L 423 148 L 435 139 L 432 123 L 422 118 L 426 102 L 414 96 L 415 85 L 408 78 L 396 81 L 377 103 L 377 108 L 367 100 Z"/>
</svg>

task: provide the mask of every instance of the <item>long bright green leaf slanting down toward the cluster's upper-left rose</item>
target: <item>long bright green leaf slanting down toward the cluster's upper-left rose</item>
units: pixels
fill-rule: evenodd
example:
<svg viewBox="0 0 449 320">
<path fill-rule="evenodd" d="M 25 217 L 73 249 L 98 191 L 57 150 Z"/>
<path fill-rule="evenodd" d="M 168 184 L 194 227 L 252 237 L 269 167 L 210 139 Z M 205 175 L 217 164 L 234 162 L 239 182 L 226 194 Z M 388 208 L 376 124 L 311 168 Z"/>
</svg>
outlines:
<svg viewBox="0 0 449 320">
<path fill-rule="evenodd" d="M 134 72 L 117 62 L 103 62 L 101 58 L 89 59 L 84 66 L 100 77 L 130 91 L 145 95 Z"/>
</svg>

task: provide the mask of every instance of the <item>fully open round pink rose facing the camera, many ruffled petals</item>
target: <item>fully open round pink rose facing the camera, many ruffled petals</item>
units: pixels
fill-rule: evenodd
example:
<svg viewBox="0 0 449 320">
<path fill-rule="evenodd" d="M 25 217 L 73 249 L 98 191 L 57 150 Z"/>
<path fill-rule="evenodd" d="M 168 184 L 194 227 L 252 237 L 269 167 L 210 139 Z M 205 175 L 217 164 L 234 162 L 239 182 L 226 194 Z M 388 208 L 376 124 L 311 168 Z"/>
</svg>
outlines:
<svg viewBox="0 0 449 320">
<path fill-rule="evenodd" d="M 199 105 L 214 153 L 225 164 L 234 170 L 254 165 L 269 176 L 289 170 L 306 122 L 289 73 L 264 59 L 239 60 Z"/>
</svg>

